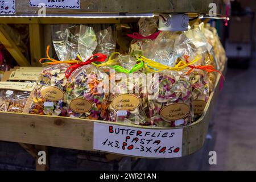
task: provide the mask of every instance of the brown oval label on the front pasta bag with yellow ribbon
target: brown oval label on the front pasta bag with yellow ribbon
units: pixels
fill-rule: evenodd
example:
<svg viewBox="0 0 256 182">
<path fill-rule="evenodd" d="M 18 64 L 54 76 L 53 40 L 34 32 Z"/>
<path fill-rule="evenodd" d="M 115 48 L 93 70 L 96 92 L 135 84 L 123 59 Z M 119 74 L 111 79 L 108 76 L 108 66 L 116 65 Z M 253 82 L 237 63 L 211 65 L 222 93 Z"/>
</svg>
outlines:
<svg viewBox="0 0 256 182">
<path fill-rule="evenodd" d="M 170 104 L 160 110 L 160 117 L 167 121 L 185 118 L 189 113 L 187 104 Z"/>
</svg>

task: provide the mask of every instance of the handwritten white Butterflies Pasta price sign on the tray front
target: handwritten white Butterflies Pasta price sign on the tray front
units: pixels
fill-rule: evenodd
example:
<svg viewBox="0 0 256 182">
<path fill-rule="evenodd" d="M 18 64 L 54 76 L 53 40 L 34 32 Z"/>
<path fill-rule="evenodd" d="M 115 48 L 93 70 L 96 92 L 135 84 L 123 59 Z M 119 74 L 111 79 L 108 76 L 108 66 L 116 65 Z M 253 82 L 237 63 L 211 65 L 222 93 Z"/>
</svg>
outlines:
<svg viewBox="0 0 256 182">
<path fill-rule="evenodd" d="M 151 158 L 181 156 L 182 129 L 154 130 L 94 123 L 94 150 Z"/>
</svg>

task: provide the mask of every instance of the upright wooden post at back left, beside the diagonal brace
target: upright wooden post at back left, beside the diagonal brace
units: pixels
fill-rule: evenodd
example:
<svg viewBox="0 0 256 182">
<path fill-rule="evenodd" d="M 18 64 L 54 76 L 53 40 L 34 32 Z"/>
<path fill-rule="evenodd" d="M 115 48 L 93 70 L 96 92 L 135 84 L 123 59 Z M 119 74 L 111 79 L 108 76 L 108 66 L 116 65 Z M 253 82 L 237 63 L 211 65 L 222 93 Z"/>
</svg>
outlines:
<svg viewBox="0 0 256 182">
<path fill-rule="evenodd" d="M 29 24 L 31 64 L 39 66 L 39 59 L 44 55 L 43 27 L 40 24 Z M 51 36 L 51 34 L 49 35 Z"/>
</svg>

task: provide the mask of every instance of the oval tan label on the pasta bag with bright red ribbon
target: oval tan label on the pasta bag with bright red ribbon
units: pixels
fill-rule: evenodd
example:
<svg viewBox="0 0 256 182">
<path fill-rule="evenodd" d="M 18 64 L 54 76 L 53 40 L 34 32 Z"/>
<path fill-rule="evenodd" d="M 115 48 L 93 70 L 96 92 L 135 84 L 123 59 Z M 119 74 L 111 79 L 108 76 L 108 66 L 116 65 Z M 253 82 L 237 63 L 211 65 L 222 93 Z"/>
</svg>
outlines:
<svg viewBox="0 0 256 182">
<path fill-rule="evenodd" d="M 86 113 L 92 109 L 92 103 L 83 98 L 75 98 L 70 102 L 69 107 L 75 113 Z"/>
</svg>

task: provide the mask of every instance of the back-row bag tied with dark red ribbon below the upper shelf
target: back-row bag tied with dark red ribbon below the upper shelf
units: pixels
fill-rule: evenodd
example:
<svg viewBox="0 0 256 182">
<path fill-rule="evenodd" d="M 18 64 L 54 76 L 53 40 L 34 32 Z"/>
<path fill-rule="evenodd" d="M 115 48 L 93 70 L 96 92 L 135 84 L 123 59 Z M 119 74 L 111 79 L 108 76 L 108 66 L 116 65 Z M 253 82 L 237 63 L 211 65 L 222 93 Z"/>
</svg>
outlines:
<svg viewBox="0 0 256 182">
<path fill-rule="evenodd" d="M 128 34 L 130 38 L 133 38 L 130 44 L 129 55 L 136 57 L 143 55 L 142 45 L 148 44 L 154 40 L 160 33 L 158 30 L 158 18 L 140 18 L 139 33 L 134 32 L 133 34 Z"/>
</svg>

